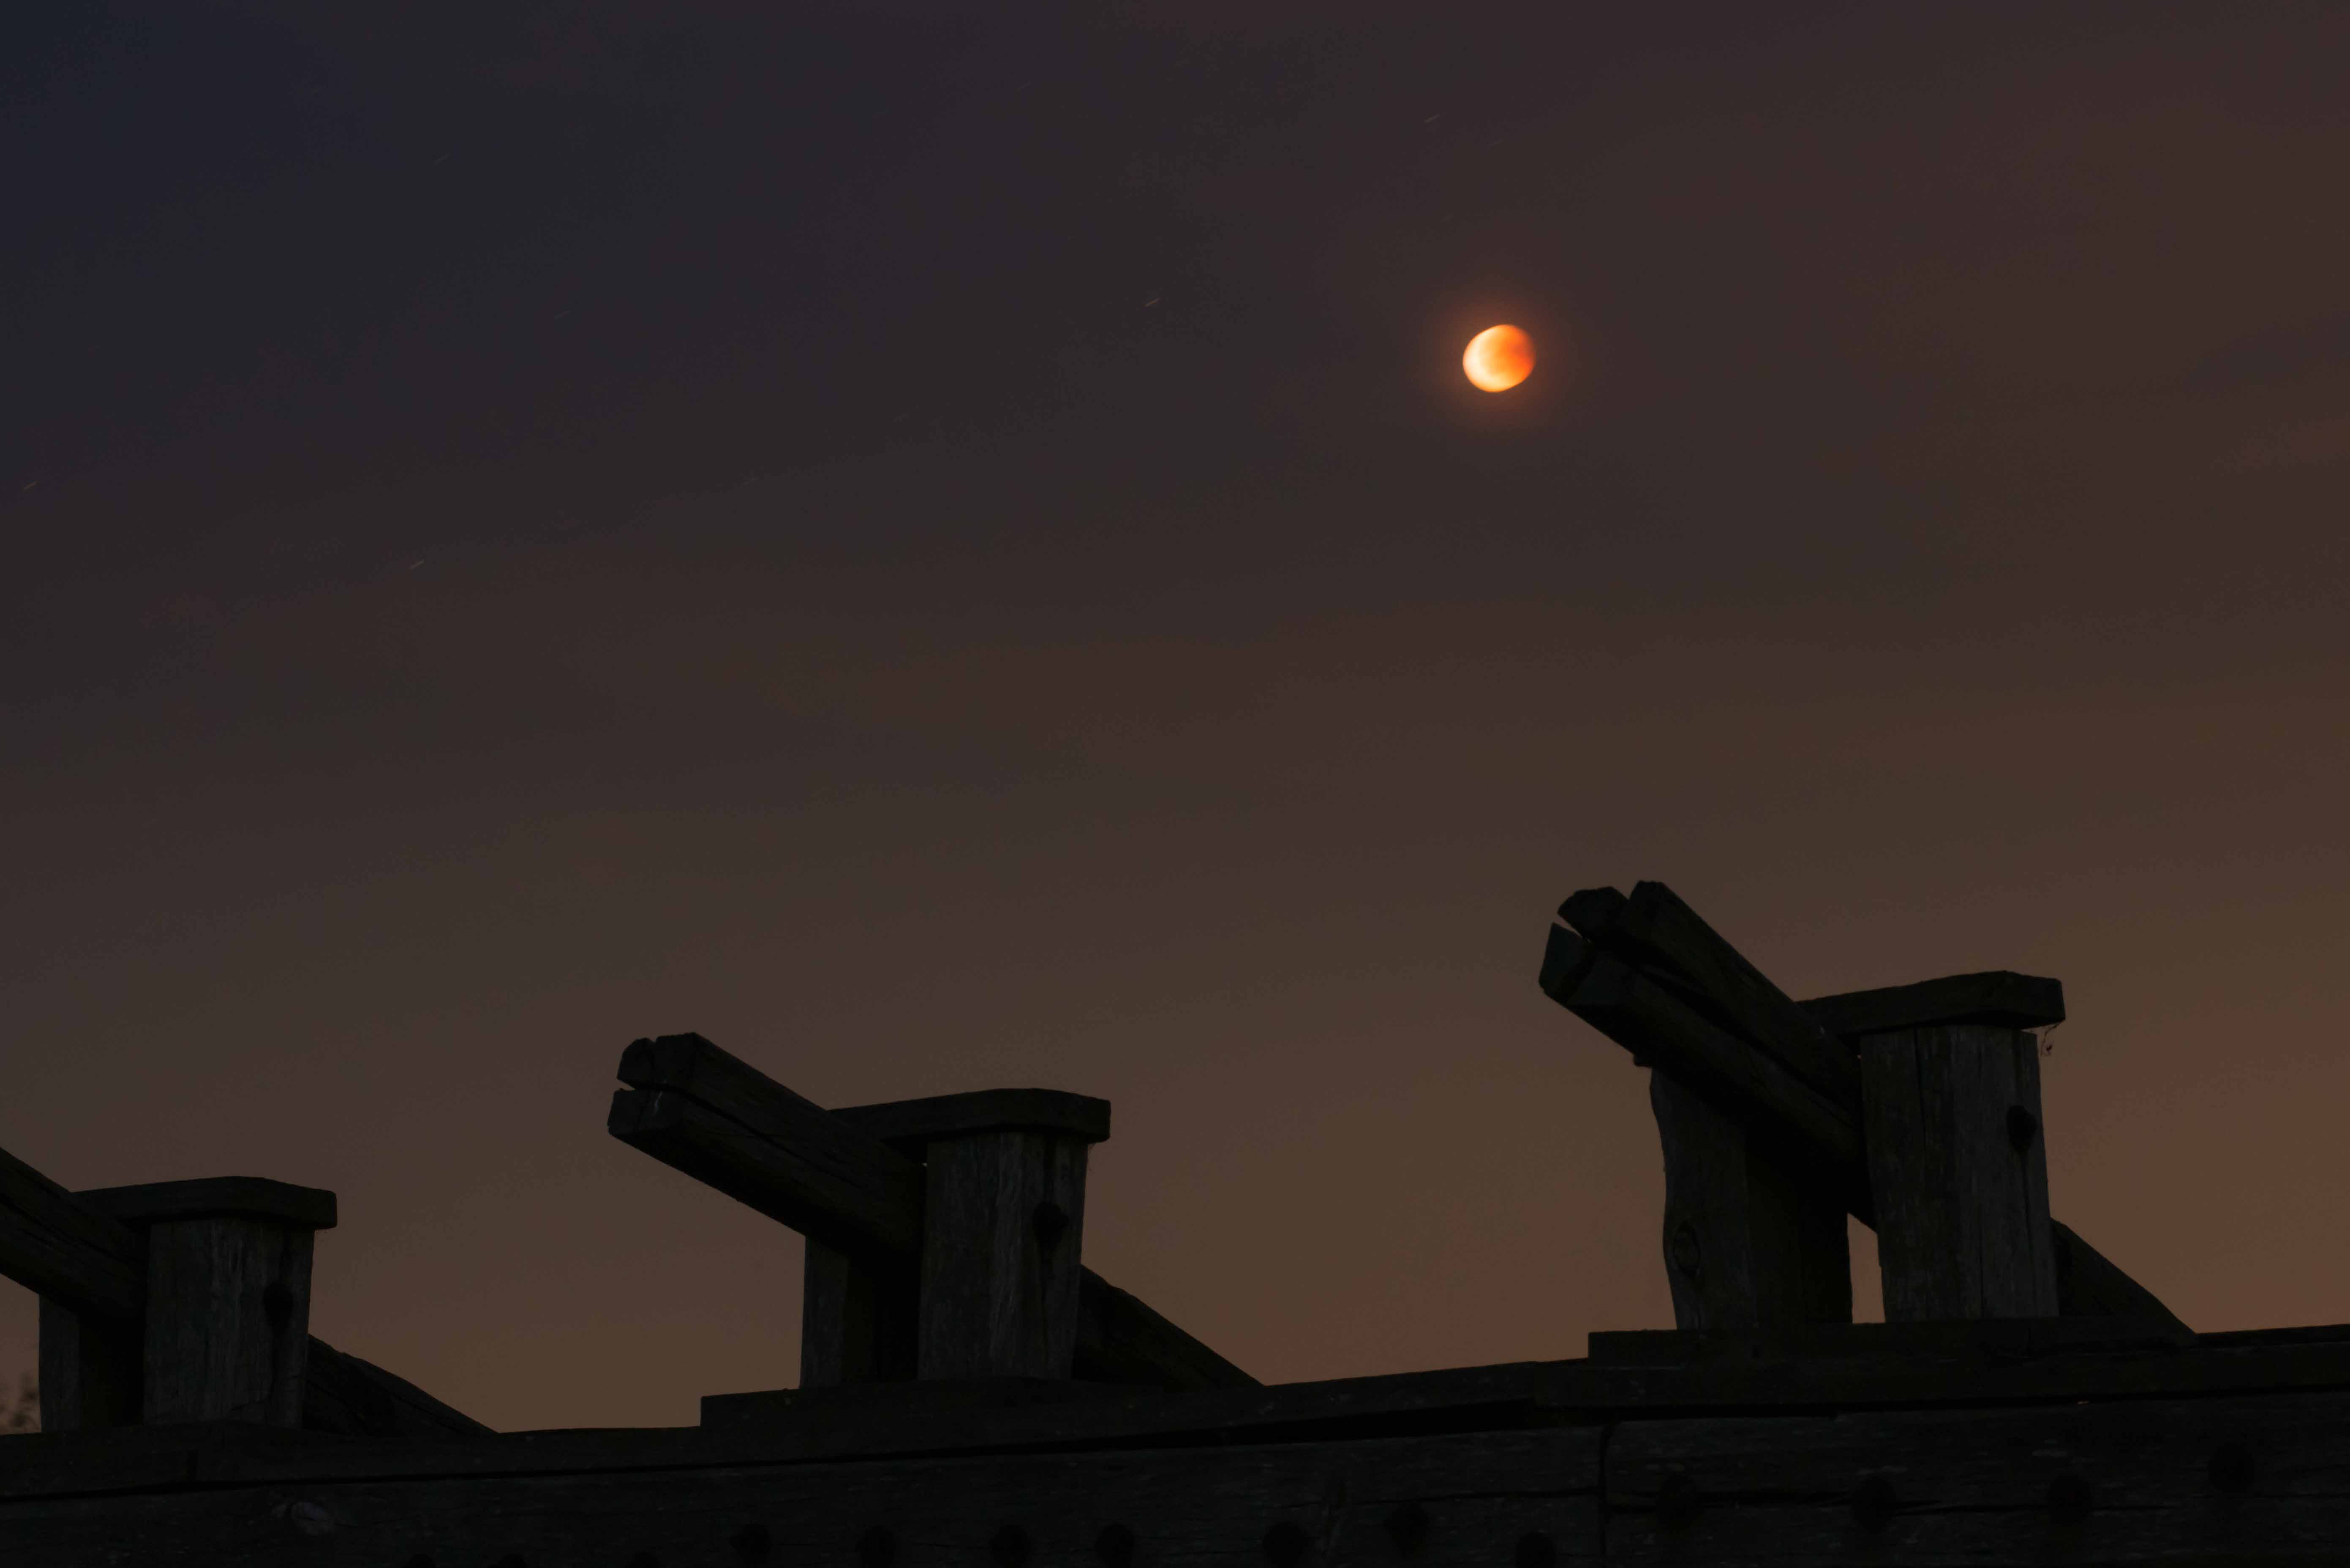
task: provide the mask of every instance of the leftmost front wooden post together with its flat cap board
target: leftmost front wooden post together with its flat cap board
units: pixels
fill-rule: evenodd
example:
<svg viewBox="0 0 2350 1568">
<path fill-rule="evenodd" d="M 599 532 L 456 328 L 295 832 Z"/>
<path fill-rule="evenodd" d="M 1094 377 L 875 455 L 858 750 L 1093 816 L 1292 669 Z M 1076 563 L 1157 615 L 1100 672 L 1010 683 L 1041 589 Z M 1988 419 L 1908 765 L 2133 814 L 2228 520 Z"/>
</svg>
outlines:
<svg viewBox="0 0 2350 1568">
<path fill-rule="evenodd" d="M 251 1175 L 80 1194 L 146 1232 L 141 1420 L 298 1427 L 313 1234 L 334 1194 Z"/>
</svg>

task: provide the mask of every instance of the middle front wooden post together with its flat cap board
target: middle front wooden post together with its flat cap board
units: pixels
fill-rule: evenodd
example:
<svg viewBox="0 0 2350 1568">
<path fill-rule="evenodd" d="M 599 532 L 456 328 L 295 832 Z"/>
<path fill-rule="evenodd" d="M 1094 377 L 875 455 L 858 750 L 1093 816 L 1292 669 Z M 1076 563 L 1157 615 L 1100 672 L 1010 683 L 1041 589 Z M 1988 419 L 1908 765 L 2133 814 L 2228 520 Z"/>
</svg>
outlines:
<svg viewBox="0 0 2350 1568">
<path fill-rule="evenodd" d="M 1086 1232 L 1086 1152 L 1109 1103 L 1050 1088 L 841 1112 L 924 1161 L 921 1378 L 1069 1378 Z"/>
</svg>

